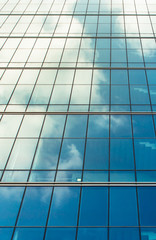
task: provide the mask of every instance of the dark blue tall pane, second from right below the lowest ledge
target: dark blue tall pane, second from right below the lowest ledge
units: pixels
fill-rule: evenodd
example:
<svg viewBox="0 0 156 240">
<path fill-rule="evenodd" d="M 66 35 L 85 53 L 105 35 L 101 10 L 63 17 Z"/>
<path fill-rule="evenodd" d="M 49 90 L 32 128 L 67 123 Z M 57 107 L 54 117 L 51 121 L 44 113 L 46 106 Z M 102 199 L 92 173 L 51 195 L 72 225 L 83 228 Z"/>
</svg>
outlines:
<svg viewBox="0 0 156 240">
<path fill-rule="evenodd" d="M 110 188 L 110 226 L 137 226 L 136 188 Z"/>
</svg>

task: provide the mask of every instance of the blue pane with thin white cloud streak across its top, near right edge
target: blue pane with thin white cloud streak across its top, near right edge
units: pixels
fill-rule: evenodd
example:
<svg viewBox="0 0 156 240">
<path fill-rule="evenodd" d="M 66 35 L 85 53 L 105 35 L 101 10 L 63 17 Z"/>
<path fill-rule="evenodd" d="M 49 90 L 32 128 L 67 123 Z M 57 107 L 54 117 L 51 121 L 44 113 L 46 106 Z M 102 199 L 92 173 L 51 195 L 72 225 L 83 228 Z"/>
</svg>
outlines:
<svg viewBox="0 0 156 240">
<path fill-rule="evenodd" d="M 147 86 L 131 86 L 130 91 L 132 104 L 150 104 Z"/>
</svg>

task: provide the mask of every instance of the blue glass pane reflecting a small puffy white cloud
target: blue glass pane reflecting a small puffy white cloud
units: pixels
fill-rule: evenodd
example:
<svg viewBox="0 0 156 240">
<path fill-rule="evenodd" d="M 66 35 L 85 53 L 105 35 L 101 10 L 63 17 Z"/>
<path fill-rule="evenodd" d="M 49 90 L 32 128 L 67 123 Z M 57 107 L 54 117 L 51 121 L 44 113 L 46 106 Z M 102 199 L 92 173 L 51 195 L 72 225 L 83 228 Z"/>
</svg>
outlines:
<svg viewBox="0 0 156 240">
<path fill-rule="evenodd" d="M 84 155 L 84 140 L 64 139 L 59 169 L 81 169 Z"/>
</svg>

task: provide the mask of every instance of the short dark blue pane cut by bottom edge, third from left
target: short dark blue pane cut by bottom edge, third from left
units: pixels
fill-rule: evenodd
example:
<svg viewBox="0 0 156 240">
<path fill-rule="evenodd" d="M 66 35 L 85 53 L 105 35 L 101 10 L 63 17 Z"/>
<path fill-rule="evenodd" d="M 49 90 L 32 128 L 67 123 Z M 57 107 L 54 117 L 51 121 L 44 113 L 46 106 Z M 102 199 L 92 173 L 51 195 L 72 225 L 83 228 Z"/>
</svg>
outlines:
<svg viewBox="0 0 156 240">
<path fill-rule="evenodd" d="M 45 240 L 75 240 L 75 228 L 47 228 Z"/>
</svg>

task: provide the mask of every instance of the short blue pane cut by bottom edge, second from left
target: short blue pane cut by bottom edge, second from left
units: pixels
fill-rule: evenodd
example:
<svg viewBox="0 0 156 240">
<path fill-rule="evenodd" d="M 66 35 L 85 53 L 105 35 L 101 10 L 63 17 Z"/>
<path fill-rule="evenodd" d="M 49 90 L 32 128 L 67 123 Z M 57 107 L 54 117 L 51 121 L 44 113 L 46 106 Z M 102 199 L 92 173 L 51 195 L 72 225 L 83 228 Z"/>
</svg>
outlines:
<svg viewBox="0 0 156 240">
<path fill-rule="evenodd" d="M 43 240 L 44 228 L 16 228 L 13 240 Z"/>
</svg>

